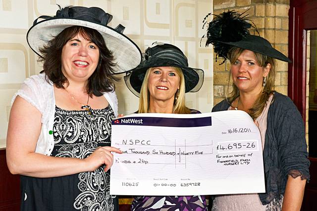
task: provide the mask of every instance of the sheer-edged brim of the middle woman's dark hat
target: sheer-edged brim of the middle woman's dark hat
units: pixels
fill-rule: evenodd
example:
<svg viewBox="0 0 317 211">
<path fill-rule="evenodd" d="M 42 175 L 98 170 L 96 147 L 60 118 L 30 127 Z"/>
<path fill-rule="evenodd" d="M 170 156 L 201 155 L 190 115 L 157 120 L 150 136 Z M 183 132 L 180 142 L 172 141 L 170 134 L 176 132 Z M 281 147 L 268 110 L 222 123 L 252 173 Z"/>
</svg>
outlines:
<svg viewBox="0 0 317 211">
<path fill-rule="evenodd" d="M 141 87 L 147 70 L 151 67 L 179 67 L 182 69 L 185 80 L 185 92 L 197 92 L 204 83 L 204 71 L 191 67 L 175 65 L 173 61 L 165 60 L 164 63 L 158 63 L 152 59 L 150 62 L 143 62 L 137 68 L 132 70 L 124 77 L 125 84 L 129 90 L 140 97 Z"/>
</svg>

